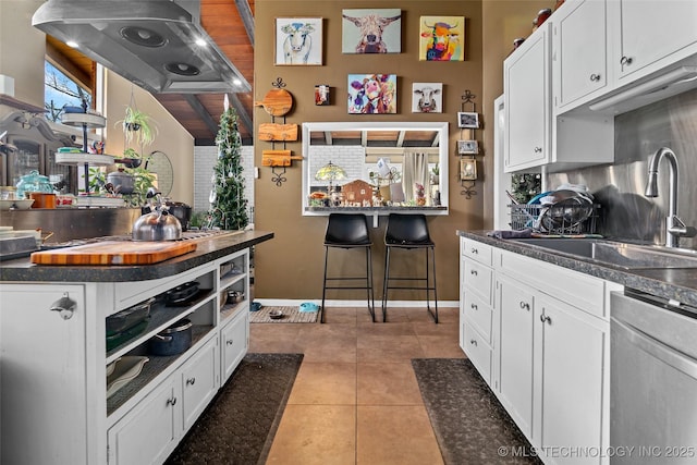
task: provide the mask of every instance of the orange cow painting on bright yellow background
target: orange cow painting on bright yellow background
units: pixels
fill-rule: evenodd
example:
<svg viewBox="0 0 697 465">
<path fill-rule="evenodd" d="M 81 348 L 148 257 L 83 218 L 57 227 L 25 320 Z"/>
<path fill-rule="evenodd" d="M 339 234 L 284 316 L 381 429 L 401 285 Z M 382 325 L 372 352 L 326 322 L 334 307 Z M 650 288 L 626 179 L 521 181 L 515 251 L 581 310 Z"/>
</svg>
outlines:
<svg viewBox="0 0 697 465">
<path fill-rule="evenodd" d="M 420 61 L 464 61 L 465 17 L 421 16 L 418 59 Z"/>
</svg>

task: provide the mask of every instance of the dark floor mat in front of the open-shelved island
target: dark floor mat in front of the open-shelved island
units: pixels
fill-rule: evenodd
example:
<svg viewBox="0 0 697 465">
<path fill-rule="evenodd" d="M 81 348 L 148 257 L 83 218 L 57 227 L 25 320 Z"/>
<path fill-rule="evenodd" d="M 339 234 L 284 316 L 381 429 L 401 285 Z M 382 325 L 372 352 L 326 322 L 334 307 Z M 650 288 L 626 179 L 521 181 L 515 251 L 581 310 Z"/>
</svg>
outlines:
<svg viewBox="0 0 697 465">
<path fill-rule="evenodd" d="M 247 354 L 166 464 L 266 462 L 302 360 L 302 354 Z"/>
</svg>

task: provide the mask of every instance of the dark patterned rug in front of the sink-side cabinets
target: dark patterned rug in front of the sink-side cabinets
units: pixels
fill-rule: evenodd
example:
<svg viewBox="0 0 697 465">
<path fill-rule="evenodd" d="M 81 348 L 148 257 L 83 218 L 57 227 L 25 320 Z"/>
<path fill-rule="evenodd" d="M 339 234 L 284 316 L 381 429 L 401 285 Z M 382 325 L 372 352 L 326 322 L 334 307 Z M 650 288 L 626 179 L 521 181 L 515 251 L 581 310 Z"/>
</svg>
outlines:
<svg viewBox="0 0 697 465">
<path fill-rule="evenodd" d="M 472 362 L 414 358 L 412 366 L 447 465 L 542 463 Z"/>
</svg>

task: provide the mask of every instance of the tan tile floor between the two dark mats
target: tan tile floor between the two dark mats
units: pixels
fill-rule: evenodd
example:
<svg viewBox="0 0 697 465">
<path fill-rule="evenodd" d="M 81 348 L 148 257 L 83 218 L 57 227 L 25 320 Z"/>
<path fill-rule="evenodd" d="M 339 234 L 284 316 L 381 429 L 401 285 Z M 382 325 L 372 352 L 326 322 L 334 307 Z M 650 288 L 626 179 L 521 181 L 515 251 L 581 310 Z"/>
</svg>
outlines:
<svg viewBox="0 0 697 465">
<path fill-rule="evenodd" d="M 326 322 L 253 323 L 249 352 L 305 357 L 267 464 L 437 465 L 412 358 L 464 357 L 457 308 L 327 308 Z M 380 317 L 381 320 L 381 317 Z"/>
</svg>

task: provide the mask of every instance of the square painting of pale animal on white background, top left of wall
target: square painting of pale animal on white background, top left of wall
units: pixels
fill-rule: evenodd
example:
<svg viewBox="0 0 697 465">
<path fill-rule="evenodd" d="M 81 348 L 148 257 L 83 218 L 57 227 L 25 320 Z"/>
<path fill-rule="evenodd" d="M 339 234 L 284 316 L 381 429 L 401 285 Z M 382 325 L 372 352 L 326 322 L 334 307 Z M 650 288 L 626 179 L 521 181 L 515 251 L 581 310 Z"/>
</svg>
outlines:
<svg viewBox="0 0 697 465">
<path fill-rule="evenodd" d="M 277 17 L 273 64 L 322 64 L 322 19 Z"/>
</svg>

